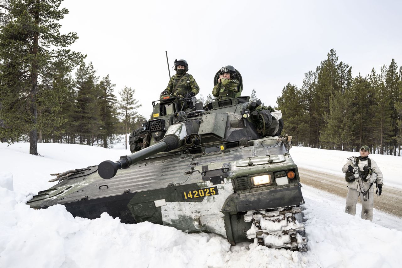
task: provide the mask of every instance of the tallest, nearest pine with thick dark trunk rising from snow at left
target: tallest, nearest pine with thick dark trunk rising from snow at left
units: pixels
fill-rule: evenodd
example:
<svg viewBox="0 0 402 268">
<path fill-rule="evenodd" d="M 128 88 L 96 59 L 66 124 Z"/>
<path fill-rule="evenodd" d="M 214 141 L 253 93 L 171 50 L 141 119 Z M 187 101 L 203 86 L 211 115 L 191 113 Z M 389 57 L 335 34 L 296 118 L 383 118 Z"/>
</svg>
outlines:
<svg viewBox="0 0 402 268">
<path fill-rule="evenodd" d="M 29 153 L 37 155 L 37 97 L 45 88 L 41 83 L 47 80 L 48 71 L 54 70 L 55 64 L 63 62 L 63 66 L 71 69 L 83 56 L 64 49 L 78 37 L 76 33 L 59 32 L 61 25 L 57 21 L 68 14 L 66 8 L 59 8 L 61 0 L 10 0 L 8 3 L 10 20 L 4 23 L 0 33 L 1 65 L 11 67 L 8 79 L 24 85 L 18 88 L 20 94 L 29 94 Z M 2 105 L 2 109 L 9 108 Z"/>
</svg>

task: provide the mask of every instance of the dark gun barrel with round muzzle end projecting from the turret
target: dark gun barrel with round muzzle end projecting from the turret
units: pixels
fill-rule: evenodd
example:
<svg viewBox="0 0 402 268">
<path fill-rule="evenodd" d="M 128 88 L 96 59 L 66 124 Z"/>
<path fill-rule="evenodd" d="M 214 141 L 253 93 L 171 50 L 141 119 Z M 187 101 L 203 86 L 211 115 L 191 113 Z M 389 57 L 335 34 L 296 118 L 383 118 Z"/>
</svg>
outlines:
<svg viewBox="0 0 402 268">
<path fill-rule="evenodd" d="M 180 140 L 176 136 L 166 136 L 157 144 L 139 150 L 138 152 L 135 152 L 131 155 L 122 156 L 116 162 L 110 160 L 103 161 L 98 166 L 98 174 L 103 179 L 111 179 L 116 175 L 118 169 L 127 168 L 131 164 L 137 163 L 152 155 L 160 152 L 168 152 L 170 150 L 178 148 L 179 146 Z"/>
</svg>

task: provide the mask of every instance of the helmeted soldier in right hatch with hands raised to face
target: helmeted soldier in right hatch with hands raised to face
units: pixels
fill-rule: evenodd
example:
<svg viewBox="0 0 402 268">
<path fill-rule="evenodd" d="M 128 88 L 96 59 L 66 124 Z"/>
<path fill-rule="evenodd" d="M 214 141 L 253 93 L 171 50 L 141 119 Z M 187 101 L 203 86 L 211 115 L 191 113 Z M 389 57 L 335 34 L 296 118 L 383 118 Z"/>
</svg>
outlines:
<svg viewBox="0 0 402 268">
<path fill-rule="evenodd" d="M 219 100 L 232 99 L 241 96 L 239 80 L 236 79 L 236 69 L 232 65 L 221 68 L 218 83 L 212 89 L 212 95 Z"/>
</svg>

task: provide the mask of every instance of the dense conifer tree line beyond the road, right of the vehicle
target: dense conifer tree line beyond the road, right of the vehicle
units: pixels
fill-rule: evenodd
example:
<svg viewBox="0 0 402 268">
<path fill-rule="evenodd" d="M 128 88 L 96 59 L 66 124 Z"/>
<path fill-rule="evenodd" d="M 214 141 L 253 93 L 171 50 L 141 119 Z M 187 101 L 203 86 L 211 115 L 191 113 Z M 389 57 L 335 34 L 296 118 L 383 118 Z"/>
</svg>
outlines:
<svg viewBox="0 0 402 268">
<path fill-rule="evenodd" d="M 284 132 L 297 145 L 400 156 L 402 145 L 402 66 L 395 60 L 379 71 L 352 76 L 334 49 L 301 87 L 288 83 L 277 98 Z"/>
</svg>

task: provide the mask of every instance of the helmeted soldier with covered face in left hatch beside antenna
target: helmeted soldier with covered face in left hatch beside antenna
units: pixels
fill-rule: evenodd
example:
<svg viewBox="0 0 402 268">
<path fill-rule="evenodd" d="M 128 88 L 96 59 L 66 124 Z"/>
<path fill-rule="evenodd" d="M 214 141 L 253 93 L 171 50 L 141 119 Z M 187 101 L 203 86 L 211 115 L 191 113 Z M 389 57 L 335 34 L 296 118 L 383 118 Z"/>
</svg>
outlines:
<svg viewBox="0 0 402 268">
<path fill-rule="evenodd" d="M 176 74 L 170 78 L 168 86 L 160 95 L 173 95 L 180 98 L 191 98 L 197 95 L 200 88 L 194 77 L 187 73 L 189 64 L 185 60 L 175 60 L 174 70 Z"/>
</svg>

